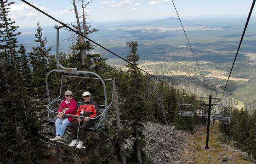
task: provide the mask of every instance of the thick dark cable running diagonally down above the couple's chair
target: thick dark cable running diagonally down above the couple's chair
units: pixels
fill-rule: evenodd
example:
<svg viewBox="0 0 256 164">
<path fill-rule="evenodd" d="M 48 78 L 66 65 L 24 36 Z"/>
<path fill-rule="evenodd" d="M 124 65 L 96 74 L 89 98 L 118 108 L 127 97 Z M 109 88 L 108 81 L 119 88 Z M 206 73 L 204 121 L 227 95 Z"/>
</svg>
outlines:
<svg viewBox="0 0 256 164">
<path fill-rule="evenodd" d="M 150 74 L 150 73 L 148 73 L 147 71 L 142 70 L 141 68 L 139 68 L 138 66 L 136 66 L 136 65 L 132 64 L 132 63 L 131 63 L 131 62 L 129 62 L 128 60 L 126 60 L 126 59 L 122 58 L 121 56 L 119 56 L 119 55 L 115 54 L 114 52 L 110 51 L 109 49 L 107 49 L 107 48 L 103 47 L 102 45 L 98 44 L 97 42 L 95 42 L 95 41 L 91 40 L 90 38 L 86 37 L 85 35 L 83 35 L 83 34 L 79 33 L 78 31 L 76 31 L 76 30 L 74 30 L 73 28 L 69 27 L 69 26 L 68 26 L 68 25 L 66 25 L 65 23 L 58 21 L 56 18 L 52 17 L 51 15 L 47 14 L 46 12 L 44 12 L 44 11 L 40 10 L 39 8 L 35 7 L 35 6 L 34 6 L 34 5 L 32 5 L 31 3 L 29 3 L 28 1 L 26 1 L 26 0 L 21 0 L 21 1 L 23 1 L 23 2 L 24 2 L 24 3 L 26 3 L 27 5 L 30 5 L 30 6 L 31 6 L 31 7 L 33 7 L 35 10 L 37 10 L 37 11 L 41 12 L 42 14 L 44 14 L 44 15 L 46 15 L 46 16 L 48 16 L 48 17 L 50 17 L 50 18 L 51 18 L 51 19 L 53 19 L 54 21 L 56 21 L 56 22 L 58 22 L 58 23 L 62 24 L 64 27 L 68 28 L 69 30 L 73 31 L 74 33 L 77 33 L 77 34 L 79 34 L 80 36 L 82 36 L 82 37 L 86 38 L 87 40 L 91 41 L 92 43 L 94 43 L 94 44 L 98 45 L 98 46 L 99 46 L 99 47 L 101 47 L 102 49 L 105 49 L 106 51 L 108 51 L 108 52 L 110 52 L 111 54 L 113 54 L 113 55 L 115 55 L 115 56 L 119 57 L 120 59 L 125 60 L 125 62 L 127 62 L 127 63 L 131 64 L 132 66 L 136 67 L 137 69 L 139 69 L 139 70 L 141 70 L 141 71 L 145 72 L 146 74 L 148 74 L 149 76 L 151 76 L 151 77 L 155 78 L 155 79 L 156 79 L 156 80 L 158 80 L 159 82 L 162 82 L 162 83 L 164 83 L 165 85 L 167 85 L 167 86 L 169 86 L 169 87 L 173 88 L 173 89 L 174 89 L 174 90 L 176 90 L 177 92 L 182 93 L 181 91 L 179 91 L 179 90 L 177 90 L 176 88 L 174 88 L 174 87 L 170 86 L 170 85 L 169 85 L 169 84 L 167 84 L 166 82 L 163 82 L 163 81 L 162 81 L 162 80 L 160 80 L 159 78 L 157 78 L 157 77 L 155 77 L 155 76 L 151 75 L 151 74 Z M 182 93 L 182 94 L 184 95 L 184 93 Z M 187 96 L 187 97 L 189 97 L 189 96 Z M 191 98 L 191 97 L 189 97 L 189 98 Z"/>
</svg>

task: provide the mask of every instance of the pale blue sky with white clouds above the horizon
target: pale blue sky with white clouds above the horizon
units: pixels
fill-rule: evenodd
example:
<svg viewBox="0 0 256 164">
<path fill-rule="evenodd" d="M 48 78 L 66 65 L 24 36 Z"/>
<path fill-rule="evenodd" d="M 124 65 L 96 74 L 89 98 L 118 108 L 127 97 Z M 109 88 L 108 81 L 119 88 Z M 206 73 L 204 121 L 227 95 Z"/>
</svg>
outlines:
<svg viewBox="0 0 256 164">
<path fill-rule="evenodd" d="M 27 0 L 65 23 L 75 21 L 73 0 Z M 173 0 L 181 18 L 247 17 L 252 0 Z M 57 24 L 21 0 L 14 0 L 9 16 L 20 28 Z M 77 4 L 78 5 L 78 4 Z M 255 9 L 256 10 L 256 9 Z M 252 17 L 255 17 L 253 12 Z M 87 7 L 92 21 L 153 20 L 177 17 L 171 0 L 92 0 Z"/>
</svg>

